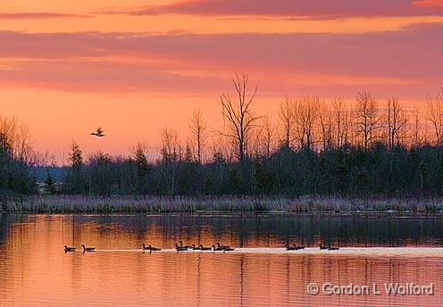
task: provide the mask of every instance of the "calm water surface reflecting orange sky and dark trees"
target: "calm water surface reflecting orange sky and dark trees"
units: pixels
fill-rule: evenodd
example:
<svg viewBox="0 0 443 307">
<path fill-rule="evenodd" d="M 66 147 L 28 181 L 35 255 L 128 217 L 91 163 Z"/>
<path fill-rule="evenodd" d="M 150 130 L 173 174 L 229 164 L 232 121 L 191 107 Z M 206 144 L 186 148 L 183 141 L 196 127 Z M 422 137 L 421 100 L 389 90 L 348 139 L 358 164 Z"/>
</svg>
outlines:
<svg viewBox="0 0 443 307">
<path fill-rule="evenodd" d="M 417 306 L 443 304 L 442 216 L 0 214 L 0 306 Z M 232 253 L 165 250 L 223 244 Z M 312 248 L 287 253 L 297 243 Z M 339 251 L 313 248 L 322 242 Z M 63 245 L 96 253 L 63 253 Z M 379 286 L 380 295 L 309 295 Z M 386 295 L 384 283 L 433 284 Z"/>
</svg>

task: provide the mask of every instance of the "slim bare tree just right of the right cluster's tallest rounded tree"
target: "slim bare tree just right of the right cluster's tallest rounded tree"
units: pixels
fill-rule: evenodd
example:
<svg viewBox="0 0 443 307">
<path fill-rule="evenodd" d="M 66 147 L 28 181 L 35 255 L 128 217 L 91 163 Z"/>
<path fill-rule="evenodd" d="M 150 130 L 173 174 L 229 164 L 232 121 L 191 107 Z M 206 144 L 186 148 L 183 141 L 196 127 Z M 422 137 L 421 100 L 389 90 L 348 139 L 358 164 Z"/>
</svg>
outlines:
<svg viewBox="0 0 443 307">
<path fill-rule="evenodd" d="M 407 128 L 409 115 L 403 110 L 398 98 L 392 97 L 388 99 L 386 111 L 386 129 L 388 132 L 388 144 L 392 149 L 400 144 L 400 139 L 404 137 L 404 131 Z"/>
</svg>

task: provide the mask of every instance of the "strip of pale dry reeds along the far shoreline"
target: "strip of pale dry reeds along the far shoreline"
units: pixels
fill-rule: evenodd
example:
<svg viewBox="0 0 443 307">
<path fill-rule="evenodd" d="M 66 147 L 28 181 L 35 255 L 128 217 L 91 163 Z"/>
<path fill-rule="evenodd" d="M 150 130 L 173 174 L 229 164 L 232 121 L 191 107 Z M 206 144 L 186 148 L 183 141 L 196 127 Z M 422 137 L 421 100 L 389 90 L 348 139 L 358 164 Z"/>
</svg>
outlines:
<svg viewBox="0 0 443 307">
<path fill-rule="evenodd" d="M 0 212 L 441 212 L 443 199 L 36 195 L 3 200 Z"/>
</svg>

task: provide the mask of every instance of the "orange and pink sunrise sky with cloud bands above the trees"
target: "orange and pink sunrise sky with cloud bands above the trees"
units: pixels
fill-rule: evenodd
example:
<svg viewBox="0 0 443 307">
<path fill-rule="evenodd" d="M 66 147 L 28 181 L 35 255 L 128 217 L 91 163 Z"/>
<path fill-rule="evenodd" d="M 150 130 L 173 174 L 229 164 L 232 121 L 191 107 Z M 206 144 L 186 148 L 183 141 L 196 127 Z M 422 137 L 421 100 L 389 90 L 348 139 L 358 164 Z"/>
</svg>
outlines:
<svg viewBox="0 0 443 307">
<path fill-rule="evenodd" d="M 420 102 L 443 81 L 442 38 L 443 0 L 0 0 L 0 114 L 58 160 L 72 138 L 155 151 L 196 107 L 221 125 L 233 71 L 270 115 L 287 94 Z"/>
</svg>

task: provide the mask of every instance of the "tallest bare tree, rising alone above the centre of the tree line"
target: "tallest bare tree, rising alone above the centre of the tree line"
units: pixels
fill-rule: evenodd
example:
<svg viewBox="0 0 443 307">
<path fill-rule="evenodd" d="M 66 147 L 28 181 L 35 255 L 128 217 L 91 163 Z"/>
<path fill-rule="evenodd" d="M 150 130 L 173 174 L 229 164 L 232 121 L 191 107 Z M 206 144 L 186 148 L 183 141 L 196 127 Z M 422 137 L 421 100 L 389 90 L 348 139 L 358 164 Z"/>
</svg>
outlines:
<svg viewBox="0 0 443 307">
<path fill-rule="evenodd" d="M 257 93 L 257 87 L 250 92 L 248 87 L 249 75 L 243 73 L 234 74 L 231 79 L 237 97 L 232 98 L 230 94 L 221 94 L 221 114 L 225 122 L 226 130 L 219 131 L 222 136 L 230 137 L 238 148 L 238 161 L 244 162 L 247 148 L 247 141 L 251 129 L 255 127 L 256 117 L 251 108 Z"/>
</svg>

